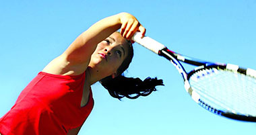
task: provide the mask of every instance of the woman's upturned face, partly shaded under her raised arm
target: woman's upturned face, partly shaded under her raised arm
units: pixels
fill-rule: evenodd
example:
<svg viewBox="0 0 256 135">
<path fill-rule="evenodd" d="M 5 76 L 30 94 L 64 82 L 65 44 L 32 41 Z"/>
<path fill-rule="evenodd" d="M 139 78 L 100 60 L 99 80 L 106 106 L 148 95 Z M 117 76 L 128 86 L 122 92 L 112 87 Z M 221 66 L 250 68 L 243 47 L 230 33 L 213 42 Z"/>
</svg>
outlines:
<svg viewBox="0 0 256 135">
<path fill-rule="evenodd" d="M 96 70 L 98 75 L 108 77 L 117 76 L 117 69 L 128 55 L 129 44 L 118 32 L 100 42 L 92 54 L 89 66 Z"/>
</svg>

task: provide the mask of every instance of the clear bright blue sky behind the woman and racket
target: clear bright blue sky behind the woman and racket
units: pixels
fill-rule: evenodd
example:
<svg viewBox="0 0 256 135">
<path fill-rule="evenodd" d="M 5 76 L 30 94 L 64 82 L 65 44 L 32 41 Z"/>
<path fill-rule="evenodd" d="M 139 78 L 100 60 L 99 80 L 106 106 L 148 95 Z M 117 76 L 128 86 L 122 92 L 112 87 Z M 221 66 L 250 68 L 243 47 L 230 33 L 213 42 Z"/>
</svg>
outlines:
<svg viewBox="0 0 256 135">
<path fill-rule="evenodd" d="M 146 35 L 171 50 L 256 69 L 255 0 L 1 1 L 0 117 L 79 34 L 99 19 L 123 11 L 135 15 L 147 28 Z M 148 97 L 119 101 L 96 83 L 94 109 L 79 134 L 255 134 L 255 123 L 222 118 L 194 103 L 172 64 L 138 44 L 134 48 L 125 74 L 158 77 L 165 86 Z"/>
</svg>

